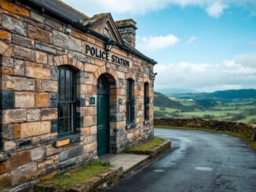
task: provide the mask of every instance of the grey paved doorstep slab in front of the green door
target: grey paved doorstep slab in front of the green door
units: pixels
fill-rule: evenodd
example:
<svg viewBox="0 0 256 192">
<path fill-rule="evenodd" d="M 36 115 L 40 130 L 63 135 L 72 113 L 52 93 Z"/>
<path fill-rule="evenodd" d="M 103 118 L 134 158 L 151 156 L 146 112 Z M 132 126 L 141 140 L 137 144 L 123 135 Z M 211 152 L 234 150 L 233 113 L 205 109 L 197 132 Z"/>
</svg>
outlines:
<svg viewBox="0 0 256 192">
<path fill-rule="evenodd" d="M 123 167 L 123 172 L 129 172 L 133 168 L 148 161 L 149 155 L 143 154 L 106 154 L 101 160 L 110 162 L 115 167 Z"/>
</svg>

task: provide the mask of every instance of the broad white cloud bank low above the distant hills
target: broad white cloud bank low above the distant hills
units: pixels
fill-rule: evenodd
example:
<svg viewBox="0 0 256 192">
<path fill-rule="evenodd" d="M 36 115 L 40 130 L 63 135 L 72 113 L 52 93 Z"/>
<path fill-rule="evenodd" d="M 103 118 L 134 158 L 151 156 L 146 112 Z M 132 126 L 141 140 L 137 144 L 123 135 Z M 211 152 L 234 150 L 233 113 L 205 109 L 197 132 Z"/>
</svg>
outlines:
<svg viewBox="0 0 256 192">
<path fill-rule="evenodd" d="M 155 89 L 256 89 L 256 55 L 243 54 L 219 64 L 170 63 L 155 65 Z"/>
</svg>

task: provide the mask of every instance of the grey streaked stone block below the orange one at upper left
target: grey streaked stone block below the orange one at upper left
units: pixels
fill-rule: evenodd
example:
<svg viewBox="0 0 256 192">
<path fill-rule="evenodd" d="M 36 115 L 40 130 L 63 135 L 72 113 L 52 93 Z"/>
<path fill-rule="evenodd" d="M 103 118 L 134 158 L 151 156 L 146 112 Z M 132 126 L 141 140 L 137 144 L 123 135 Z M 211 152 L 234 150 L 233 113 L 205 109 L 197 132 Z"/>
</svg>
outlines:
<svg viewBox="0 0 256 192">
<path fill-rule="evenodd" d="M 16 34 L 27 35 L 27 24 L 10 16 L 2 15 L 2 27 Z"/>
</svg>

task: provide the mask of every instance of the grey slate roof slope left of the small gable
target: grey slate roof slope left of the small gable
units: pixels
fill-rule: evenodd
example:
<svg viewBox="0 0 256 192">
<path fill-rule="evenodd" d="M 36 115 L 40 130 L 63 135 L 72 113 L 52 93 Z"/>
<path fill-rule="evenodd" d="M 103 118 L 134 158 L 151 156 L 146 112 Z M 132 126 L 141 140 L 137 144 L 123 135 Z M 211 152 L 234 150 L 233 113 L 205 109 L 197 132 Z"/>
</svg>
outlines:
<svg viewBox="0 0 256 192">
<path fill-rule="evenodd" d="M 89 16 L 86 16 L 60 0 L 33 0 L 33 2 L 52 9 L 60 15 L 67 16 L 71 20 L 79 21 L 89 18 Z"/>
</svg>

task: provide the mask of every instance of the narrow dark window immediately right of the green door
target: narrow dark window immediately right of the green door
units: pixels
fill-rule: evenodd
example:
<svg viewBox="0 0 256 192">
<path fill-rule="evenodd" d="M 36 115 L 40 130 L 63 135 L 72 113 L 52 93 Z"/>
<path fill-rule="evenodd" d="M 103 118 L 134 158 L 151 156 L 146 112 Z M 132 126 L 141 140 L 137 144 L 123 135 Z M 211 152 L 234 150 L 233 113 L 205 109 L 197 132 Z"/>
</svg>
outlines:
<svg viewBox="0 0 256 192">
<path fill-rule="evenodd" d="M 128 79 L 126 82 L 126 123 L 133 121 L 133 80 Z"/>
</svg>

